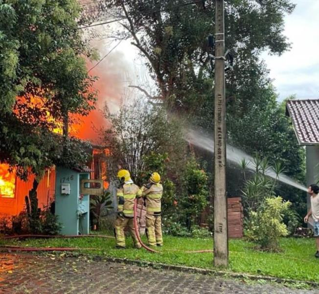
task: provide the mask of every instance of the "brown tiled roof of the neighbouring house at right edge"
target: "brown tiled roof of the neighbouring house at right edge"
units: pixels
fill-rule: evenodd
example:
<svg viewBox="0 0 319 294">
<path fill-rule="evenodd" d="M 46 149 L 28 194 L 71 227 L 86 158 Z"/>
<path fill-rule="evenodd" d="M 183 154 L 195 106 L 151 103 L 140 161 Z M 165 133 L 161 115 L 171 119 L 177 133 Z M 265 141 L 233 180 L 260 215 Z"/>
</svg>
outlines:
<svg viewBox="0 0 319 294">
<path fill-rule="evenodd" d="M 286 115 L 291 117 L 300 145 L 319 145 L 319 99 L 288 100 Z"/>
</svg>

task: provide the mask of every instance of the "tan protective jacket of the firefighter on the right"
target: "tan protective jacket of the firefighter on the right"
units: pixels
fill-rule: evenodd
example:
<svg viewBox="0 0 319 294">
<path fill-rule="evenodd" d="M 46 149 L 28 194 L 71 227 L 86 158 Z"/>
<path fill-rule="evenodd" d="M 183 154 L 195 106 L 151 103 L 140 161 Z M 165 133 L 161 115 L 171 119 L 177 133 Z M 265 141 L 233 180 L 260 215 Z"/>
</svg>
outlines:
<svg viewBox="0 0 319 294">
<path fill-rule="evenodd" d="M 146 213 L 160 215 L 160 200 L 163 195 L 163 186 L 160 183 L 149 183 L 142 187 L 142 196 L 146 198 Z"/>
</svg>

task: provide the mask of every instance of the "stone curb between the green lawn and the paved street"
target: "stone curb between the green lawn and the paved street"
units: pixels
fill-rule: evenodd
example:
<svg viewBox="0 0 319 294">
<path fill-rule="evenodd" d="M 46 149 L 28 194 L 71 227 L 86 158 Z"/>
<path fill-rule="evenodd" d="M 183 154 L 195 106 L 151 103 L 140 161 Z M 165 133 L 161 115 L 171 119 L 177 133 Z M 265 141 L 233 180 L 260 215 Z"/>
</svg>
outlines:
<svg viewBox="0 0 319 294">
<path fill-rule="evenodd" d="M 292 279 L 283 279 L 283 278 L 276 278 L 272 276 L 263 276 L 263 275 L 253 275 L 253 274 L 246 274 L 246 273 L 236 273 L 232 271 L 225 271 L 225 270 L 209 270 L 209 269 L 201 269 L 201 268 L 192 268 L 192 267 L 184 267 L 184 266 L 175 266 L 175 265 L 167 265 L 162 263 L 154 263 L 149 261 L 139 261 L 133 259 L 125 259 L 125 258 L 116 258 L 116 257 L 102 257 L 102 256 L 95 256 L 95 258 L 100 260 L 106 260 L 108 262 L 115 262 L 115 263 L 124 263 L 128 265 L 135 265 L 140 267 L 151 267 L 154 269 L 163 269 L 163 270 L 176 270 L 181 272 L 188 272 L 188 273 L 200 273 L 200 274 L 207 274 L 207 275 L 215 275 L 215 276 L 229 276 L 233 278 L 246 278 L 250 280 L 266 280 L 270 282 L 275 282 L 278 284 L 296 284 L 296 283 L 303 283 L 312 288 L 319 288 L 319 283 L 310 282 L 310 281 L 301 281 L 301 280 L 292 280 Z"/>
</svg>

